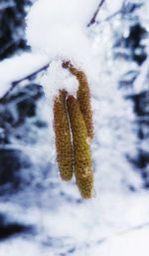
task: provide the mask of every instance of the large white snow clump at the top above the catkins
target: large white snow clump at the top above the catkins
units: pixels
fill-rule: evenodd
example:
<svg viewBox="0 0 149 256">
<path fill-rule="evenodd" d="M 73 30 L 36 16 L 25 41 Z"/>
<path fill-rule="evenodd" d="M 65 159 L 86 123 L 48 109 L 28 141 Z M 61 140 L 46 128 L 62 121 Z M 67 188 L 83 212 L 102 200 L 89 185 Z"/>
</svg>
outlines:
<svg viewBox="0 0 149 256">
<path fill-rule="evenodd" d="M 91 55 L 86 25 L 97 5 L 97 0 L 37 1 L 27 17 L 28 43 L 51 59 L 86 61 Z"/>
</svg>

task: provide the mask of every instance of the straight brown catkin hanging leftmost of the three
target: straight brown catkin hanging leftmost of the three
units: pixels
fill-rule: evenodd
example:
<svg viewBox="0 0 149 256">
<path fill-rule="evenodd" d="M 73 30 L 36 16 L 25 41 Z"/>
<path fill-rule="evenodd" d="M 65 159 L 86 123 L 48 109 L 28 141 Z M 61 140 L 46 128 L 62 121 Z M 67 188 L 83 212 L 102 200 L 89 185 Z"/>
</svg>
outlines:
<svg viewBox="0 0 149 256">
<path fill-rule="evenodd" d="M 66 107 L 67 93 L 61 91 L 54 103 L 54 128 L 56 133 L 57 160 L 62 179 L 73 177 L 74 156 L 71 130 Z"/>
</svg>

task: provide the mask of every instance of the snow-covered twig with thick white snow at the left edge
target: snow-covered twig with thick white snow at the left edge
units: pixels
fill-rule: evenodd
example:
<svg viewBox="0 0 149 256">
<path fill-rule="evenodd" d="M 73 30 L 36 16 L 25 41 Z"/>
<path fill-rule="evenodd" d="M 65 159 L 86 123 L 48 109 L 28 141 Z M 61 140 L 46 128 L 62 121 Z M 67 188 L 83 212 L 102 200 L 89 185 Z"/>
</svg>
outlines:
<svg viewBox="0 0 149 256">
<path fill-rule="evenodd" d="M 21 82 L 29 80 L 49 66 L 48 58 L 33 53 L 6 59 L 0 63 L 0 101 L 3 102 L 10 92 Z M 9 74 L 9 76 L 6 76 Z"/>
</svg>

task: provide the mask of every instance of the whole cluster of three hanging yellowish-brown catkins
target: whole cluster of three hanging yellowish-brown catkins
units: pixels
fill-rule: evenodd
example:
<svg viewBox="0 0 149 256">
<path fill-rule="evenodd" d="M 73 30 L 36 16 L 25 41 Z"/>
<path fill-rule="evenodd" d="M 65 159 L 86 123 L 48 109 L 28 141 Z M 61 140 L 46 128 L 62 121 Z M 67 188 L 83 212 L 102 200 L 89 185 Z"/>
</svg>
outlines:
<svg viewBox="0 0 149 256">
<path fill-rule="evenodd" d="M 74 96 L 60 91 L 54 103 L 54 128 L 56 133 L 57 160 L 62 179 L 70 180 L 73 173 L 83 198 L 90 198 L 93 188 L 90 139 L 93 137 L 90 92 L 86 77 L 70 63 L 64 68 L 78 80 Z"/>
</svg>

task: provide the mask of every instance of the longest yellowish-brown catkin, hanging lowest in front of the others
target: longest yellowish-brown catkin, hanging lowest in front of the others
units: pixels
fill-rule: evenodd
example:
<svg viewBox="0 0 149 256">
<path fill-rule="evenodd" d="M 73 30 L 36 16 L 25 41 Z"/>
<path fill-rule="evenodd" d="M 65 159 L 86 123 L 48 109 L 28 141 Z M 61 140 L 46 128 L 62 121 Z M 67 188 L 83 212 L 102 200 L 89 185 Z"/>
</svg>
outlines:
<svg viewBox="0 0 149 256">
<path fill-rule="evenodd" d="M 70 123 L 74 142 L 74 174 L 76 185 L 83 198 L 90 198 L 93 188 L 90 146 L 87 141 L 87 130 L 74 96 L 67 100 Z"/>
</svg>

